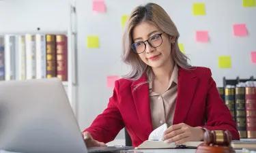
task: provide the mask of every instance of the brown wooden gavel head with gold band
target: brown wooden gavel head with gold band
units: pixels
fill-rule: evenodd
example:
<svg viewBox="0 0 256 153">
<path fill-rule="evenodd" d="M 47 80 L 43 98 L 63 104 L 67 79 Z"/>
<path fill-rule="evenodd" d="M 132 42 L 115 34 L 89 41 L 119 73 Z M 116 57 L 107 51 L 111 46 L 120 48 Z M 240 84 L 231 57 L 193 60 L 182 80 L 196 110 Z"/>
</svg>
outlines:
<svg viewBox="0 0 256 153">
<path fill-rule="evenodd" d="M 232 140 L 232 136 L 229 131 L 206 130 L 203 140 L 208 146 L 229 146 Z"/>
</svg>

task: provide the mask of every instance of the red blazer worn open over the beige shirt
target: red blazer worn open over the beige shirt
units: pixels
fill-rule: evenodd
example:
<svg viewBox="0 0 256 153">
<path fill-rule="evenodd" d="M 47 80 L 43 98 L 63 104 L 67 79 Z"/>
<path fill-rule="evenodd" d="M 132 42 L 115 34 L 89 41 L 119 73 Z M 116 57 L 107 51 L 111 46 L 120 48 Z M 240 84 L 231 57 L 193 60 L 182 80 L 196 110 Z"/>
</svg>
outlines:
<svg viewBox="0 0 256 153">
<path fill-rule="evenodd" d="M 236 122 L 218 93 L 210 69 L 178 69 L 173 124 L 184 122 L 209 130 L 228 130 L 233 139 L 240 139 Z M 125 126 L 132 139 L 132 146 L 139 146 L 147 140 L 153 131 L 148 84 L 134 90 L 135 85 L 146 80 L 145 74 L 137 81 L 123 78 L 117 80 L 108 106 L 84 131 L 89 131 L 94 139 L 107 143 L 113 141 Z"/>
</svg>

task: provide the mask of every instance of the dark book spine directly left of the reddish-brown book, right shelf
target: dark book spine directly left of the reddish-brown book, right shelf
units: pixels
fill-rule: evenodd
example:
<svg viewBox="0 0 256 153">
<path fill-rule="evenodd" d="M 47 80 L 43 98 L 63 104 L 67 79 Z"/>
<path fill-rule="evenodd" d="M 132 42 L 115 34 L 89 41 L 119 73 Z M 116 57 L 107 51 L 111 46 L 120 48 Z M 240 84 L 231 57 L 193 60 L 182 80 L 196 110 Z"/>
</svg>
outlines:
<svg viewBox="0 0 256 153">
<path fill-rule="evenodd" d="M 240 138 L 244 139 L 246 135 L 246 112 L 245 112 L 245 88 L 236 87 L 236 126 Z"/>
</svg>

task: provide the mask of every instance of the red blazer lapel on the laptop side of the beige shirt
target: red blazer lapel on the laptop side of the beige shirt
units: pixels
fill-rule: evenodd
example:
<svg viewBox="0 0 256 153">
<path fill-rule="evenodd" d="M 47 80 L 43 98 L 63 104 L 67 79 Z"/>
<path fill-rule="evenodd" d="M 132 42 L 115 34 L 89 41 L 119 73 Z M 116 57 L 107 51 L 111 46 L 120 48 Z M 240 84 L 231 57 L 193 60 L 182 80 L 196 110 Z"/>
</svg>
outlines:
<svg viewBox="0 0 256 153">
<path fill-rule="evenodd" d="M 141 84 L 147 81 L 147 75 L 144 73 L 139 80 L 132 82 L 132 95 L 134 99 L 134 105 L 138 114 L 139 122 L 141 126 L 145 128 L 145 132 L 148 135 L 153 131 L 152 117 L 150 111 L 150 95 L 148 84 Z M 141 84 L 137 87 L 138 84 Z"/>
</svg>

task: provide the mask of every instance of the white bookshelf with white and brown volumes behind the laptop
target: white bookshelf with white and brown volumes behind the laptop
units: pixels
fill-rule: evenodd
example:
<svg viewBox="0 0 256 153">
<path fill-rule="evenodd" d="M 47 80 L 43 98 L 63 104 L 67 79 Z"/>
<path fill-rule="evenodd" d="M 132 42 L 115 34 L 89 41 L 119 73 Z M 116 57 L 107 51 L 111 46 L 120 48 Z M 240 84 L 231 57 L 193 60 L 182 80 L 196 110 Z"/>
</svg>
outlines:
<svg viewBox="0 0 256 153">
<path fill-rule="evenodd" d="M 0 31 L 0 80 L 57 77 L 62 80 L 70 105 L 77 116 L 76 101 L 74 100 L 74 88 L 76 87 L 76 61 L 74 60 L 76 57 L 76 7 L 73 3 L 69 3 L 68 7 L 70 7 L 70 16 L 66 31 L 41 31 L 38 28 L 35 28 L 35 31 Z M 48 49 L 50 45 L 46 35 L 55 35 L 55 49 Z M 57 43 L 57 36 L 60 35 L 65 37 L 66 41 L 58 41 L 59 43 Z M 40 37 L 41 39 L 38 39 Z M 48 72 L 50 65 L 48 52 L 50 51 L 55 52 L 55 55 L 51 55 L 51 60 L 56 62 L 55 64 L 51 63 L 55 69 L 53 71 L 56 71 L 55 74 L 51 74 L 51 77 L 49 77 Z M 57 54 L 57 52 L 65 52 L 65 54 Z M 58 61 L 63 57 L 66 61 Z M 64 70 L 58 73 L 60 69 Z"/>
</svg>

